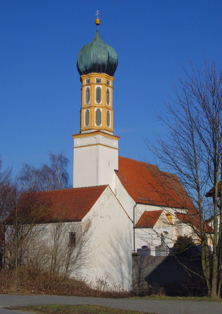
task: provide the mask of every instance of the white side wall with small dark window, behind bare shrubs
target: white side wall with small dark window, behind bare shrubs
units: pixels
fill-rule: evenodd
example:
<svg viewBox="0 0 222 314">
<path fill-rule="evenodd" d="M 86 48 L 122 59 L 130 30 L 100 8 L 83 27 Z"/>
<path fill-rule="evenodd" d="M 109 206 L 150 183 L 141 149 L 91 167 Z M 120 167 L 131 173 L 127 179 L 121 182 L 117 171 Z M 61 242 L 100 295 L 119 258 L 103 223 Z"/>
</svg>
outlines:
<svg viewBox="0 0 222 314">
<path fill-rule="evenodd" d="M 77 269 L 87 266 L 90 252 L 84 248 L 84 244 L 90 240 L 90 230 L 82 233 L 82 223 L 64 221 L 63 219 L 44 224 L 36 224 L 30 228 L 23 225 L 22 231 L 29 233 L 25 236 L 25 242 L 19 243 L 19 250 L 24 264 L 38 265 L 42 270 L 52 270 L 60 274 L 69 275 Z M 20 232 L 20 233 L 21 233 Z M 10 249 L 10 239 L 13 237 L 12 226 L 6 228 L 5 249 Z M 70 233 L 75 233 L 75 246 L 70 245 Z M 21 233 L 22 235 L 22 233 Z M 68 262 L 69 261 L 69 262 Z"/>
</svg>

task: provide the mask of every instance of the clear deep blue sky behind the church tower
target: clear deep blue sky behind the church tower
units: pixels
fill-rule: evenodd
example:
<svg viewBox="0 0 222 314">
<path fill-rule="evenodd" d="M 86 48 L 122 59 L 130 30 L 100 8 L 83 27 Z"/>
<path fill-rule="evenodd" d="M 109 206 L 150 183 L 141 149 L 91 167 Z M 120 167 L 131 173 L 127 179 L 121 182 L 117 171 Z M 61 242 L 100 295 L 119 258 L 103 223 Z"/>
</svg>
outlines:
<svg viewBox="0 0 222 314">
<path fill-rule="evenodd" d="M 221 1 L 4 1 L 0 2 L 0 154 L 13 176 L 23 163 L 39 166 L 63 151 L 72 178 L 73 133 L 79 132 L 80 48 L 100 36 L 119 57 L 113 89 L 119 154 L 154 162 L 143 138 L 165 130 L 172 78 L 189 59 L 221 62 Z"/>
</svg>

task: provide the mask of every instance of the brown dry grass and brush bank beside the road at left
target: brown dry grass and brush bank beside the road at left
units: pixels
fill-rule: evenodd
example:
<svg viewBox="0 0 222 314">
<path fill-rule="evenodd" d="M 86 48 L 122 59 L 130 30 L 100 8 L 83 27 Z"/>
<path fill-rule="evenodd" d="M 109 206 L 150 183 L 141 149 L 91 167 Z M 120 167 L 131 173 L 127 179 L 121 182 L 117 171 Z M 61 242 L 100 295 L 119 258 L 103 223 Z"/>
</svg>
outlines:
<svg viewBox="0 0 222 314">
<path fill-rule="evenodd" d="M 84 281 L 64 279 L 61 276 L 31 268 L 19 268 L 17 280 L 14 270 L 0 271 L 0 293 L 28 293 L 47 295 L 74 295 L 106 298 L 132 296 L 119 291 L 92 289 Z"/>
</svg>

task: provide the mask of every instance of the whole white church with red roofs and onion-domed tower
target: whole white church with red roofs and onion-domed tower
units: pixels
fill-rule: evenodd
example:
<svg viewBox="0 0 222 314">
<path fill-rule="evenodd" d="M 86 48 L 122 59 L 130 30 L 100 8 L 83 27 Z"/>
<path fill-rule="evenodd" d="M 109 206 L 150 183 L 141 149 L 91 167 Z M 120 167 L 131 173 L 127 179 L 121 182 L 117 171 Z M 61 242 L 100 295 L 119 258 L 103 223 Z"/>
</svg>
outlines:
<svg viewBox="0 0 222 314">
<path fill-rule="evenodd" d="M 113 133 L 118 56 L 100 38 L 98 16 L 95 23 L 95 38 L 77 60 L 81 108 L 80 132 L 73 134 L 73 188 L 41 195 L 60 204 L 61 211 L 68 207 L 69 221 L 83 228 L 91 221 L 93 258 L 78 273 L 93 280 L 108 276 L 110 286 L 131 290 L 132 252 L 146 247 L 150 255 L 167 255 L 178 235 L 192 233 L 186 217 L 196 213 L 175 175 L 118 155 L 120 137 Z"/>
</svg>

